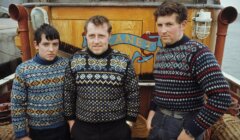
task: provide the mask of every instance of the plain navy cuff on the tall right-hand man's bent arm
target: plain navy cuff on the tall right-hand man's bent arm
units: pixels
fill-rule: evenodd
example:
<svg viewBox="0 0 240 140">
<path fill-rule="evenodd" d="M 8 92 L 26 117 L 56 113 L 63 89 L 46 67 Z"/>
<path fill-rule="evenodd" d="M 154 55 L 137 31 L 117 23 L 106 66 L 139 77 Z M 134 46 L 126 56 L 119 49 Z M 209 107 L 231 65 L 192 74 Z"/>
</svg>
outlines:
<svg viewBox="0 0 240 140">
<path fill-rule="evenodd" d="M 197 123 L 195 122 L 195 120 L 193 120 L 193 121 L 190 121 L 188 124 L 186 124 L 186 125 L 184 126 L 184 129 L 185 129 L 185 130 L 188 130 L 189 133 L 190 133 L 194 138 L 196 138 L 196 137 L 198 137 L 200 134 L 202 134 L 202 133 L 205 131 L 205 129 L 200 128 L 200 126 L 198 126 L 198 125 L 199 125 L 199 124 L 197 124 Z"/>
</svg>

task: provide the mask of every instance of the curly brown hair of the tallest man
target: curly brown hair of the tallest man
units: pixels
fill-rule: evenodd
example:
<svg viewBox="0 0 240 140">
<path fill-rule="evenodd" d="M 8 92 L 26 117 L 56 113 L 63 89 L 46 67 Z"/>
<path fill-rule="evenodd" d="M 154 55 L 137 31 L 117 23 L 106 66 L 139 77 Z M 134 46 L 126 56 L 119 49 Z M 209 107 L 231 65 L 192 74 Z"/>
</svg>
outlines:
<svg viewBox="0 0 240 140">
<path fill-rule="evenodd" d="M 187 20 L 187 8 L 183 4 L 173 1 L 165 1 L 154 12 L 155 21 L 157 21 L 158 17 L 171 16 L 174 13 L 177 14 L 176 20 L 178 23 Z"/>
</svg>

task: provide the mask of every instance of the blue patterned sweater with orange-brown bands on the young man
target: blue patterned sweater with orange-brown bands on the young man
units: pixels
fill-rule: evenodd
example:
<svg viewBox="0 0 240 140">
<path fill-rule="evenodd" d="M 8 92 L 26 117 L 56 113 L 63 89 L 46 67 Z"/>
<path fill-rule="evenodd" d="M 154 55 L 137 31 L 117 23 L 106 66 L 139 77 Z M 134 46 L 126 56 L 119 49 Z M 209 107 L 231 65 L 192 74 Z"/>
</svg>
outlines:
<svg viewBox="0 0 240 140">
<path fill-rule="evenodd" d="M 36 55 L 17 67 L 11 97 L 17 138 L 27 135 L 26 127 L 56 128 L 65 123 L 63 83 L 67 64 L 68 60 L 61 57 L 49 62 Z"/>
</svg>

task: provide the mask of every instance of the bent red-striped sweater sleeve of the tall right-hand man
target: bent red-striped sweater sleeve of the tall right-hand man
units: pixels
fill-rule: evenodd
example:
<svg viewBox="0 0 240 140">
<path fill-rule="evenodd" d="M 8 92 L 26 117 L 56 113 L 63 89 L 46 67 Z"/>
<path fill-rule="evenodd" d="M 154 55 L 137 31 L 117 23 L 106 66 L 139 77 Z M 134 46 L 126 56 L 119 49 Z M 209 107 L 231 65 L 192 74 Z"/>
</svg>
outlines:
<svg viewBox="0 0 240 140">
<path fill-rule="evenodd" d="M 192 58 L 192 73 L 206 95 L 206 102 L 196 117 L 184 127 L 198 136 L 226 112 L 231 103 L 229 86 L 210 50 L 200 49 Z"/>
</svg>

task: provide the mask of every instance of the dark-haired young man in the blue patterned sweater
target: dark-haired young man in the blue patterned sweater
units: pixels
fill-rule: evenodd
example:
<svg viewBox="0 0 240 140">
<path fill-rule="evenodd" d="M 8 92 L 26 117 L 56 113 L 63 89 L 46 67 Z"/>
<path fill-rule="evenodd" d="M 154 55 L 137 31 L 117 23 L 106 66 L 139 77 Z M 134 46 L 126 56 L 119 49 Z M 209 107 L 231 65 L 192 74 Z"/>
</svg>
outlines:
<svg viewBox="0 0 240 140">
<path fill-rule="evenodd" d="M 63 116 L 63 83 L 68 60 L 57 56 L 58 31 L 35 31 L 36 56 L 17 67 L 11 95 L 12 123 L 20 140 L 70 140 Z M 28 133 L 29 129 L 29 133 Z"/>
</svg>

